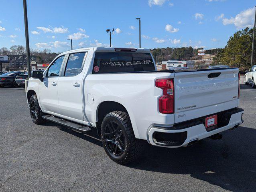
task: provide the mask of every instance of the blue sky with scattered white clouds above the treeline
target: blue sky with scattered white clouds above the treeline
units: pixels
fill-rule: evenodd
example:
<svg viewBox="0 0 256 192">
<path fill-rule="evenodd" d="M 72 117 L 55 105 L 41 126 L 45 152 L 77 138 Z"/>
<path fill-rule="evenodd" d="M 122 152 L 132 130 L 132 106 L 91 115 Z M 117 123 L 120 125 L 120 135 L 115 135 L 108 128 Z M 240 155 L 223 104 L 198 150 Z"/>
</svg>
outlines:
<svg viewBox="0 0 256 192">
<path fill-rule="evenodd" d="M 252 27 L 254 0 L 27 0 L 30 48 L 53 52 L 109 46 L 223 48 L 237 30 Z M 2 0 L 0 48 L 25 45 L 22 0 Z"/>
</svg>

